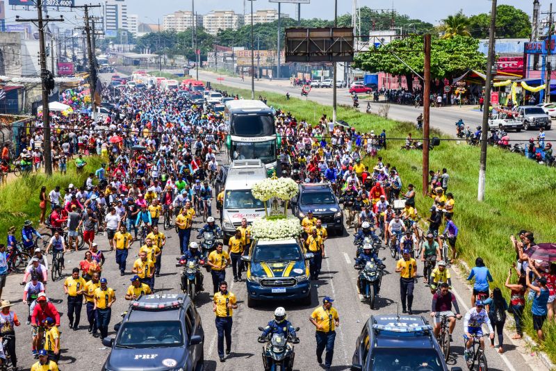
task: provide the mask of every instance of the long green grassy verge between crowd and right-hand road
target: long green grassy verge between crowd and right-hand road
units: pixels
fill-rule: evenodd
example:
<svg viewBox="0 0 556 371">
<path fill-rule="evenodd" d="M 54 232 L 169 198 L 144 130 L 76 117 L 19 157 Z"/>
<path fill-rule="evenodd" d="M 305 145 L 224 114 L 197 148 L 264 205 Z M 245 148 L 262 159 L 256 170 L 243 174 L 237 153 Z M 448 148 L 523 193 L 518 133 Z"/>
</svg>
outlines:
<svg viewBox="0 0 556 371">
<path fill-rule="evenodd" d="M 218 85 L 213 84 L 217 88 Z M 250 97 L 249 90 L 240 90 L 220 85 L 229 93 Z M 292 98 L 286 100 L 282 94 L 256 92 L 268 99 L 268 104 L 290 111 L 297 119 L 306 119 L 316 124 L 325 113 L 332 117 L 332 107 L 322 106 L 313 101 Z M 388 138 L 405 138 L 407 133 L 420 136 L 415 126 L 408 122 L 395 122 L 377 115 L 368 115 L 350 107 L 338 107 L 338 118 L 349 122 L 357 131 L 380 133 L 386 130 Z M 439 138 L 447 136 L 432 131 Z M 421 151 L 402 151 L 403 140 L 387 141 L 388 149 L 380 151 L 384 163 L 397 167 L 404 182 L 413 183 L 420 190 L 423 173 Z M 515 260 L 515 253 L 510 245 L 509 236 L 521 229 L 534 231 L 537 242 L 556 240 L 556 214 L 553 212 L 556 197 L 556 170 L 533 163 L 523 156 L 511 154 L 498 148 L 489 147 L 486 164 L 486 197 L 484 202 L 477 201 L 477 179 L 479 172 L 480 149 L 464 142 L 441 141 L 439 147 L 430 151 L 430 169 L 448 169 L 450 182 L 448 191 L 455 197 L 455 223 L 460 234 L 457 238 L 459 257 L 470 266 L 475 265 L 475 258 L 481 256 L 493 274 L 493 286 L 502 288 L 508 297 L 509 292 L 503 288 L 510 265 Z M 375 166 L 375 161 L 366 158 L 365 165 Z M 430 197 L 423 197 L 418 192 L 416 205 L 420 215 L 426 217 L 432 206 Z M 525 321 L 528 333 L 536 338 L 532 322 Z M 546 342 L 541 345 L 552 361 L 556 361 L 556 326 L 545 324 Z"/>
</svg>

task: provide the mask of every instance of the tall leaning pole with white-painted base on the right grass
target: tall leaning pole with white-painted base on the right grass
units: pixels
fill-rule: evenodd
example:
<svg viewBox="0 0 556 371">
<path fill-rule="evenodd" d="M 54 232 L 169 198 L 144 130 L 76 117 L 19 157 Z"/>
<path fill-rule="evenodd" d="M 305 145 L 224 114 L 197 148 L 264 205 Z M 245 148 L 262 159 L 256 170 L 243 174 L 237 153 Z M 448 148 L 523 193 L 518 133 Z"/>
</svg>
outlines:
<svg viewBox="0 0 556 371">
<path fill-rule="evenodd" d="M 491 29 L 489 33 L 489 56 L 486 60 L 486 81 L 484 84 L 484 110 L 482 113 L 481 133 L 481 165 L 479 168 L 479 186 L 477 201 L 484 201 L 484 186 L 486 183 L 486 133 L 489 132 L 489 108 L 491 106 L 492 67 L 494 62 L 494 42 L 496 33 L 496 0 L 492 0 Z M 550 85 L 550 83 L 549 83 Z"/>
</svg>

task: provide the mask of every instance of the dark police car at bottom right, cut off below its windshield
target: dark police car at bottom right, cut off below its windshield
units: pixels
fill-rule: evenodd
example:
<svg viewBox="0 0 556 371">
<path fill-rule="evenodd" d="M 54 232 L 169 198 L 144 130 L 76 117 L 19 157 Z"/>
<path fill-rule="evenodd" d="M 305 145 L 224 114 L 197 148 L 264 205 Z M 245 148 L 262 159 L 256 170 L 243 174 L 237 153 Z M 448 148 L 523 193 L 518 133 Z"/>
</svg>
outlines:
<svg viewBox="0 0 556 371">
<path fill-rule="evenodd" d="M 448 366 L 432 326 L 420 315 L 371 315 L 357 338 L 352 370 L 448 371 Z"/>
</svg>

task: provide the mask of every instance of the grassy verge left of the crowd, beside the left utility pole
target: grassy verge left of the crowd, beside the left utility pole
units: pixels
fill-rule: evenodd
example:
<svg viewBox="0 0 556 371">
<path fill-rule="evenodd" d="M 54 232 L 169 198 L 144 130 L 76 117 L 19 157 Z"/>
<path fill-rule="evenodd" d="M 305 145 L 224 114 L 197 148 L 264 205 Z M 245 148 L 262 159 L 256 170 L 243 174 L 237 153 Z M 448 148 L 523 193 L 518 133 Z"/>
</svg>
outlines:
<svg viewBox="0 0 556 371">
<path fill-rule="evenodd" d="M 38 227 L 40 219 L 39 194 L 42 186 L 47 187 L 47 194 L 56 186 L 60 186 L 61 193 L 73 183 L 76 187 L 83 186 L 83 182 L 90 172 L 95 172 L 100 167 L 102 161 L 99 156 L 90 156 L 83 172 L 77 175 L 74 161 L 67 164 L 67 174 L 61 175 L 54 172 L 51 176 L 45 174 L 31 174 L 13 179 L 6 186 L 0 188 L 0 240 L 6 241 L 6 235 L 10 226 L 16 226 L 20 236 L 20 229 L 24 220 L 28 219 L 33 225 Z M 47 213 L 49 212 L 47 208 Z"/>
</svg>

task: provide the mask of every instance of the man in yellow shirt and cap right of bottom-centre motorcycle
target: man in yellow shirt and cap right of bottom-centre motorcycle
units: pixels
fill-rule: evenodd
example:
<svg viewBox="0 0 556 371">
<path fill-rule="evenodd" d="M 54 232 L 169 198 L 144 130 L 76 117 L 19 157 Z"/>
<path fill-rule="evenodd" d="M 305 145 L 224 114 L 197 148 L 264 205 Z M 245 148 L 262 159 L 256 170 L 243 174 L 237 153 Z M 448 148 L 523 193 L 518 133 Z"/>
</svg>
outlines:
<svg viewBox="0 0 556 371">
<path fill-rule="evenodd" d="M 325 370 L 332 366 L 334 356 L 334 340 L 336 340 L 336 327 L 340 326 L 340 317 L 336 308 L 332 308 L 332 297 L 324 297 L 322 306 L 315 308 L 309 321 L 316 327 L 317 361 L 322 365 L 322 353 L 326 349 Z"/>
</svg>

